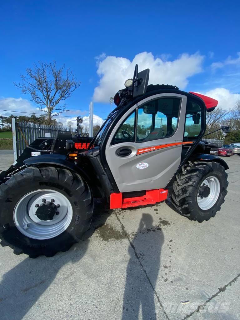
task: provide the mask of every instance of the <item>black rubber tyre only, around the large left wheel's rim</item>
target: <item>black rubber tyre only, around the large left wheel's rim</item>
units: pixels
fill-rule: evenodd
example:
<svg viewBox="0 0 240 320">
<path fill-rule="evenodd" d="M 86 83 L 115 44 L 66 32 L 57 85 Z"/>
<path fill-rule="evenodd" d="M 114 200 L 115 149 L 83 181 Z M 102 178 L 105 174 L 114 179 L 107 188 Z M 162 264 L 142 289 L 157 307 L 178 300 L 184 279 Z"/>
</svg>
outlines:
<svg viewBox="0 0 240 320">
<path fill-rule="evenodd" d="M 21 234 L 14 223 L 9 221 L 12 212 L 8 212 L 12 201 L 9 200 L 8 202 L 8 199 L 12 199 L 18 194 L 18 190 L 22 189 L 23 185 L 39 183 L 44 183 L 46 186 L 50 186 L 49 188 L 59 186 L 66 193 L 68 192 L 69 196 L 74 199 L 74 212 L 76 212 L 73 214 L 69 231 L 64 231 L 55 238 L 44 240 L 43 242 L 46 244 L 43 245 L 39 241 Z M 14 174 L 8 181 L 0 185 L 0 203 L 0 244 L 11 247 L 14 254 L 25 253 L 30 258 L 36 258 L 40 255 L 52 257 L 57 252 L 67 251 L 72 244 L 81 240 L 91 224 L 93 214 L 91 190 L 82 177 L 76 172 L 53 166 L 28 167 Z M 11 227 L 6 227 L 8 225 L 11 225 Z"/>
</svg>

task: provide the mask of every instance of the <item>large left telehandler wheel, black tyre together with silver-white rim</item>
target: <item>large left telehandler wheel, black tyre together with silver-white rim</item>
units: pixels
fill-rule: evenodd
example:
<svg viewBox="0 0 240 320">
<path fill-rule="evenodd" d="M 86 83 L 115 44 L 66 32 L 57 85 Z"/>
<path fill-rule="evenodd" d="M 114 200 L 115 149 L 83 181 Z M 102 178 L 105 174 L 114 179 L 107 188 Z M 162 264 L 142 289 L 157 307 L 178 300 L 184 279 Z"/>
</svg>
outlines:
<svg viewBox="0 0 240 320">
<path fill-rule="evenodd" d="M 36 197 L 41 204 L 41 197 L 54 195 L 55 204 L 62 201 L 60 208 L 55 208 L 59 212 L 52 221 L 36 220 Z M 55 167 L 26 168 L 0 186 L 1 245 L 30 258 L 65 252 L 89 228 L 92 212 L 91 190 L 80 175 Z"/>
</svg>

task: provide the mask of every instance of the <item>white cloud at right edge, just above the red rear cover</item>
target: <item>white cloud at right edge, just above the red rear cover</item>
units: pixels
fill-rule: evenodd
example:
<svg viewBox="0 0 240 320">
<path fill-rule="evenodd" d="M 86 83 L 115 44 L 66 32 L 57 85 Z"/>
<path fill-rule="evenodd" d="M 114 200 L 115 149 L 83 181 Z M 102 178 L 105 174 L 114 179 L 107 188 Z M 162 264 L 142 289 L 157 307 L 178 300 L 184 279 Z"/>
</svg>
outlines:
<svg viewBox="0 0 240 320">
<path fill-rule="evenodd" d="M 239 93 L 231 93 L 225 88 L 215 88 L 213 90 L 203 92 L 203 94 L 218 100 L 218 105 L 227 110 L 234 108 L 236 101 L 240 99 Z"/>
</svg>

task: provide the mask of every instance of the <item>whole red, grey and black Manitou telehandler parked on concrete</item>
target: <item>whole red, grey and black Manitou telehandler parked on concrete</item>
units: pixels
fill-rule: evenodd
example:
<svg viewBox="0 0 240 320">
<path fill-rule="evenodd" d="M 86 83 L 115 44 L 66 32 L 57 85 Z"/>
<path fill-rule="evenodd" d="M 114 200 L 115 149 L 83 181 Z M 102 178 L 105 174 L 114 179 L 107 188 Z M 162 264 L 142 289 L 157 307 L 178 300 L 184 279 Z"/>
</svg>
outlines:
<svg viewBox="0 0 240 320">
<path fill-rule="evenodd" d="M 168 200 L 190 220 L 215 216 L 228 165 L 201 139 L 218 101 L 148 78 L 136 65 L 93 139 L 38 138 L 1 173 L 3 246 L 32 258 L 68 250 L 89 228 L 94 198 L 110 209 Z"/>
</svg>

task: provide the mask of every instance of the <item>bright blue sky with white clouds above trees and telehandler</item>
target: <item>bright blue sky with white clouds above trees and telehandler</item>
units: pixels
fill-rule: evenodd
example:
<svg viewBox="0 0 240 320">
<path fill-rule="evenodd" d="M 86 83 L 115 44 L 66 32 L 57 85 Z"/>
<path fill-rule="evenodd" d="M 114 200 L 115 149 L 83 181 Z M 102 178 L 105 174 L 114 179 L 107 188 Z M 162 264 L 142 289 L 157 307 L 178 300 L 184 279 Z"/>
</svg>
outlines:
<svg viewBox="0 0 240 320">
<path fill-rule="evenodd" d="M 1 2 L 0 108 L 36 108 L 12 81 L 38 60 L 65 63 L 81 81 L 69 117 L 87 116 L 77 109 L 94 99 L 105 118 L 135 62 L 150 67 L 153 83 L 210 93 L 231 108 L 240 98 L 239 14 L 238 1 Z"/>
</svg>

